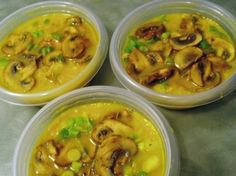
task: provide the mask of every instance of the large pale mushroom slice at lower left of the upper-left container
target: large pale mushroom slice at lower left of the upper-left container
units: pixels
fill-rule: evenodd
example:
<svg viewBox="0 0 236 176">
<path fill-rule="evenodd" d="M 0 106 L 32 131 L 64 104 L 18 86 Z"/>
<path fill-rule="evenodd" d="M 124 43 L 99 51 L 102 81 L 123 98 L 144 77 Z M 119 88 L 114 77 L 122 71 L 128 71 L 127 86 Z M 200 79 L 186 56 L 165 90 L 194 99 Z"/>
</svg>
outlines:
<svg viewBox="0 0 236 176">
<path fill-rule="evenodd" d="M 35 84 L 32 75 L 36 71 L 37 66 L 35 61 L 27 64 L 21 61 L 12 61 L 8 64 L 4 70 L 4 81 L 10 89 L 19 92 L 27 92 L 32 89 Z"/>
</svg>

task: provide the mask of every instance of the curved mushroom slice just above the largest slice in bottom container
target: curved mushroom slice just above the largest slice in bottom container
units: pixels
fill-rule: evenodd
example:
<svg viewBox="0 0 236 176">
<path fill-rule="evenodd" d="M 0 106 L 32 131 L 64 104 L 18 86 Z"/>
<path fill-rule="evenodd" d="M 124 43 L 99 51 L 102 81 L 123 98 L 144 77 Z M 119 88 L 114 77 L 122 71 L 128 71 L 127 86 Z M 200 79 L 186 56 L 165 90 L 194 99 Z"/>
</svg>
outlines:
<svg viewBox="0 0 236 176">
<path fill-rule="evenodd" d="M 106 119 L 98 124 L 92 132 L 92 139 L 101 144 L 111 135 L 127 136 L 131 134 L 132 128 L 118 120 Z"/>
</svg>

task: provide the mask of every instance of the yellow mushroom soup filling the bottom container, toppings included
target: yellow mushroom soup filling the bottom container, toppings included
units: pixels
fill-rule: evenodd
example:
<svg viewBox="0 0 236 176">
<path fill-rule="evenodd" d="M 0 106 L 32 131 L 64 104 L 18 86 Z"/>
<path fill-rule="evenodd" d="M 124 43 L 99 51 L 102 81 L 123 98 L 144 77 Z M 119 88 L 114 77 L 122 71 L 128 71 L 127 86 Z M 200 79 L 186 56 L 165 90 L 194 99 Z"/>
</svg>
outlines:
<svg viewBox="0 0 236 176">
<path fill-rule="evenodd" d="M 166 173 L 158 129 L 117 102 L 78 104 L 53 119 L 34 147 L 30 176 L 157 176 Z"/>
</svg>

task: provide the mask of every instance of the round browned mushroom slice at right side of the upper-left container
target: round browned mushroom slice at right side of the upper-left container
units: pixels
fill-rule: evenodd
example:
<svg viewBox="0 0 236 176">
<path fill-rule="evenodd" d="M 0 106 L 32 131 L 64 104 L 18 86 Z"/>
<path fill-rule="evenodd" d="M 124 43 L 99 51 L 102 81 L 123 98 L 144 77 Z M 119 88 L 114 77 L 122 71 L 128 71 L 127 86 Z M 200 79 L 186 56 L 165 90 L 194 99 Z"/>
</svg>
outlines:
<svg viewBox="0 0 236 176">
<path fill-rule="evenodd" d="M 65 57 L 82 57 L 86 51 L 85 41 L 78 35 L 69 35 L 62 43 L 62 51 Z"/>
</svg>

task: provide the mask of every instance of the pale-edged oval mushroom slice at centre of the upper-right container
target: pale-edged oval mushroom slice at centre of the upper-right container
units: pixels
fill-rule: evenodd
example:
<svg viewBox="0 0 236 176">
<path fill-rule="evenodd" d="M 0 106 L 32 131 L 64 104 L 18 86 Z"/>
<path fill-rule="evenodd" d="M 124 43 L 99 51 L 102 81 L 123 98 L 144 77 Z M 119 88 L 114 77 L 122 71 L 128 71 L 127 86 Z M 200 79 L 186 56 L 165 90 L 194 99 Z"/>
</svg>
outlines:
<svg viewBox="0 0 236 176">
<path fill-rule="evenodd" d="M 202 55 L 202 50 L 197 47 L 184 48 L 175 55 L 175 66 L 183 70 L 196 62 Z"/>
</svg>

